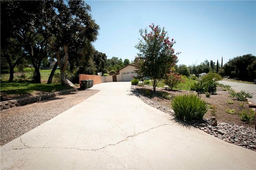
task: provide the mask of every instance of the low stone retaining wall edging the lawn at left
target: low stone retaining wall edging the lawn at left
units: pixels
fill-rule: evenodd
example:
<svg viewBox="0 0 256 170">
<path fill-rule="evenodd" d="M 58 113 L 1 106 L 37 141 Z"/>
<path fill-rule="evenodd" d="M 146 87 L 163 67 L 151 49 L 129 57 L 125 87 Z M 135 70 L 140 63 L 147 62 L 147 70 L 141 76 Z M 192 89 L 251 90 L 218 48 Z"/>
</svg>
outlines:
<svg viewBox="0 0 256 170">
<path fill-rule="evenodd" d="M 69 89 L 69 90 L 63 90 L 60 92 L 52 92 L 48 94 L 40 94 L 38 96 L 32 96 L 32 97 L 26 97 L 26 98 L 20 98 L 15 100 L 8 100 L 4 102 L 0 102 L 0 110 L 12 108 L 15 106 L 25 105 L 29 103 L 38 102 L 41 100 L 46 100 L 49 98 L 55 98 L 56 96 L 63 95 L 63 94 L 69 94 L 71 92 L 77 91 L 77 88 Z"/>
</svg>

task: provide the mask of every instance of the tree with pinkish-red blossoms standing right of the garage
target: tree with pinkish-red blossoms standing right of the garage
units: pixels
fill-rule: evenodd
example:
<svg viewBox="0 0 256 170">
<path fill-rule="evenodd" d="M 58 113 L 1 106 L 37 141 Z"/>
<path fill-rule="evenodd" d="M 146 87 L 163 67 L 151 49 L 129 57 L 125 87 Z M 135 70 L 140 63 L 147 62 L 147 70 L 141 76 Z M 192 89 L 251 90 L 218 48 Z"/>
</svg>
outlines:
<svg viewBox="0 0 256 170">
<path fill-rule="evenodd" d="M 177 55 L 180 52 L 174 53 L 172 46 L 175 41 L 169 40 L 164 28 L 151 24 L 150 32 L 140 29 L 142 39 L 135 46 L 139 50 L 135 64 L 138 66 L 136 73 L 138 78 L 151 78 L 153 89 L 156 91 L 158 82 L 169 73 L 177 62 Z"/>
</svg>

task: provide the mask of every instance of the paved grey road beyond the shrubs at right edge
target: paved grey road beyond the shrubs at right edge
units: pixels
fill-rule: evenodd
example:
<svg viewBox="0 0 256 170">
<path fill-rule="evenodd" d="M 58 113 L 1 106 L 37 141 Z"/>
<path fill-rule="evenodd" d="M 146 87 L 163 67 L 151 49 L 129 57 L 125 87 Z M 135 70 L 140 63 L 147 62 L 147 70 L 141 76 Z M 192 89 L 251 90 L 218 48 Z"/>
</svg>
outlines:
<svg viewBox="0 0 256 170">
<path fill-rule="evenodd" d="M 219 81 L 222 84 L 228 84 L 234 90 L 252 93 L 252 98 L 250 99 L 253 104 L 256 104 L 256 84 L 247 84 L 247 83 L 239 83 L 239 82 L 231 82 L 231 81 Z"/>
</svg>

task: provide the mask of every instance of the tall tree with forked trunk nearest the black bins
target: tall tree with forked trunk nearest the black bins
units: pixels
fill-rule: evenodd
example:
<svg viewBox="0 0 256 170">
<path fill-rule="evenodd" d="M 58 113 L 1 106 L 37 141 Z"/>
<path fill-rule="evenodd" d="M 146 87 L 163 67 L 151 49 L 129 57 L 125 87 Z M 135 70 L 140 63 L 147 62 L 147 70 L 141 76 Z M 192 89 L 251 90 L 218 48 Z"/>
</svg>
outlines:
<svg viewBox="0 0 256 170">
<path fill-rule="evenodd" d="M 60 66 L 61 80 L 65 79 L 65 70 L 68 66 L 68 51 L 70 46 L 85 40 L 93 42 L 98 35 L 99 26 L 90 15 L 90 6 L 82 0 L 54 1 L 55 14 L 48 22 L 48 27 L 52 36 L 50 46 L 56 52 L 56 59 Z M 79 51 L 78 51 L 79 52 Z M 64 82 L 62 81 L 62 84 Z"/>
</svg>

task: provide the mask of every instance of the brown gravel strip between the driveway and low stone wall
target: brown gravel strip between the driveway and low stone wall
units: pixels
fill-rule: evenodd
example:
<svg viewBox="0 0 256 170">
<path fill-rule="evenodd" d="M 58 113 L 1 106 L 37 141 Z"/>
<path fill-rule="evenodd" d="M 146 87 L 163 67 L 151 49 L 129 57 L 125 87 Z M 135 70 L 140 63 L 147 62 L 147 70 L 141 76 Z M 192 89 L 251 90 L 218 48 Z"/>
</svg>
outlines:
<svg viewBox="0 0 256 170">
<path fill-rule="evenodd" d="M 1 146 L 72 108 L 96 94 L 98 90 L 82 90 L 50 100 L 1 110 Z"/>
</svg>

